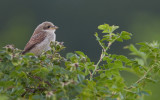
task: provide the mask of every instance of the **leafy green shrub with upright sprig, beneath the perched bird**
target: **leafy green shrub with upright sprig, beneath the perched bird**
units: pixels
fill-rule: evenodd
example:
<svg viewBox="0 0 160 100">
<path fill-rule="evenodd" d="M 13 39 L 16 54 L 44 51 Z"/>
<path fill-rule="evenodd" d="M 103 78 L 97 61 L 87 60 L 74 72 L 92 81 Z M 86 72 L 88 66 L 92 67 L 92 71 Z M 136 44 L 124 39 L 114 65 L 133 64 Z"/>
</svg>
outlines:
<svg viewBox="0 0 160 100">
<path fill-rule="evenodd" d="M 150 92 L 149 82 L 159 76 L 160 48 L 157 42 L 126 46 L 134 55 L 109 54 L 116 42 L 123 42 L 131 33 L 115 33 L 118 26 L 98 26 L 103 37 L 95 33 L 102 47 L 100 58 L 92 62 L 81 51 L 60 55 L 63 43 L 51 43 L 52 50 L 35 56 L 21 55 L 21 50 L 7 45 L 0 51 L 0 94 L 3 100 L 139 100 Z M 128 71 L 138 80 L 127 85 L 121 72 Z"/>
</svg>

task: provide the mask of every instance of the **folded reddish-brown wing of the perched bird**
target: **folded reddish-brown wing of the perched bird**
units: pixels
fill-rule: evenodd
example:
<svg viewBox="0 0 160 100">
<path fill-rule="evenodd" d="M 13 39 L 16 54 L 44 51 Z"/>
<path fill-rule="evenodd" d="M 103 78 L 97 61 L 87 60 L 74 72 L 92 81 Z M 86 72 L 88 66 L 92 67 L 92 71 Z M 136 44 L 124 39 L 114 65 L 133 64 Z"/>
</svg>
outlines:
<svg viewBox="0 0 160 100">
<path fill-rule="evenodd" d="M 39 44 L 41 41 L 43 41 L 46 36 L 47 34 L 44 31 L 41 31 L 38 34 L 33 35 L 29 42 L 26 44 L 22 54 L 29 52 L 33 47 L 36 46 L 36 44 Z"/>
</svg>

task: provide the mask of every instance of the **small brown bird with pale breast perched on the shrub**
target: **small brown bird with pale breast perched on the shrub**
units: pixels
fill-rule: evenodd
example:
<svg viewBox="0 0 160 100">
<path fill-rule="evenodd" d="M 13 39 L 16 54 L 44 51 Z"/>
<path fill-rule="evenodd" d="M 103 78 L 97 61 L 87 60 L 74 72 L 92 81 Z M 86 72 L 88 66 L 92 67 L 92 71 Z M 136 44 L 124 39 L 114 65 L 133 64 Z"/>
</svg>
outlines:
<svg viewBox="0 0 160 100">
<path fill-rule="evenodd" d="M 58 29 L 52 22 L 45 21 L 37 26 L 30 40 L 24 47 L 22 54 L 28 52 L 36 56 L 51 49 L 50 43 L 56 41 L 55 31 Z"/>
</svg>

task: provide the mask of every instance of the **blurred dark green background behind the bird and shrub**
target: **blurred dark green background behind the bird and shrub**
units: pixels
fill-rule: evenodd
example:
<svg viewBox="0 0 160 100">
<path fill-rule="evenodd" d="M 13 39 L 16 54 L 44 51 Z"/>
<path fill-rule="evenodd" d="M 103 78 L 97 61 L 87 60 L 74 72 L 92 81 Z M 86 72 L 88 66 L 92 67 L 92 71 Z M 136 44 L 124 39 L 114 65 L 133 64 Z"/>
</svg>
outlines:
<svg viewBox="0 0 160 100">
<path fill-rule="evenodd" d="M 0 47 L 14 44 L 23 49 L 37 25 L 51 21 L 59 27 L 57 41 L 67 47 L 64 54 L 83 51 L 97 61 L 101 48 L 94 33 L 100 33 L 98 25 L 107 23 L 133 34 L 131 40 L 115 43 L 109 51 L 127 55 L 126 45 L 160 40 L 159 5 L 159 0 L 0 0 Z M 152 95 L 145 100 L 160 98 L 159 84 L 147 87 Z"/>
</svg>

